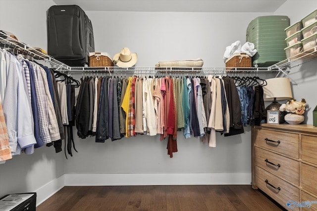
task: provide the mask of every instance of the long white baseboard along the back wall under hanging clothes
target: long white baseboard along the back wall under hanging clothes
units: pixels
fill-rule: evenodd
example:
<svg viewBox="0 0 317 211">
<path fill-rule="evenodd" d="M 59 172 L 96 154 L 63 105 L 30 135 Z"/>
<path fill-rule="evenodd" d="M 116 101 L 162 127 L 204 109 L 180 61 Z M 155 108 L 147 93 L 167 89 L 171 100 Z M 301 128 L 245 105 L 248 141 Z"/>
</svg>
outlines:
<svg viewBox="0 0 317 211">
<path fill-rule="evenodd" d="M 251 184 L 250 173 L 68 173 L 65 186 Z"/>
</svg>

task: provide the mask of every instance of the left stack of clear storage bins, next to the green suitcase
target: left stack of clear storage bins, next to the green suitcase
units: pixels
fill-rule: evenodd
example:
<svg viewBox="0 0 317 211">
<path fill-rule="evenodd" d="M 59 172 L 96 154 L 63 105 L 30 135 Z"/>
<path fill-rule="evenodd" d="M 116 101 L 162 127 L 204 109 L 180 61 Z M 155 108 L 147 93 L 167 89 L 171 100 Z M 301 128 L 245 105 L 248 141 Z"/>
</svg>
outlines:
<svg viewBox="0 0 317 211">
<path fill-rule="evenodd" d="M 302 21 L 299 21 L 285 29 L 287 38 L 285 39 L 287 47 L 284 48 L 286 53 L 286 58 L 291 58 L 303 51 L 303 39 L 302 30 L 303 24 Z"/>
</svg>

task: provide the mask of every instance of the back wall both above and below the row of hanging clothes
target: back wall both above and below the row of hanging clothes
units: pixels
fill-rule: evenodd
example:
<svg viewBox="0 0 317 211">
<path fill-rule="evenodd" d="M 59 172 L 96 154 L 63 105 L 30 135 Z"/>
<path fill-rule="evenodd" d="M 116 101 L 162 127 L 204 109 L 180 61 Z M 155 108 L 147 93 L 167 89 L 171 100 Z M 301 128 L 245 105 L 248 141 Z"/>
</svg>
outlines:
<svg viewBox="0 0 317 211">
<path fill-rule="evenodd" d="M 225 47 L 246 40 L 249 22 L 267 13 L 105 12 L 87 11 L 93 23 L 96 51 L 114 55 L 122 47 L 138 53 L 137 66 L 159 61 L 202 58 L 205 67 L 223 67 Z M 78 73 L 81 76 L 81 73 Z M 262 76 L 262 75 L 261 75 Z M 264 76 L 265 77 L 265 76 Z M 76 137 L 79 153 L 65 163 L 65 173 L 249 173 L 251 132 L 223 137 L 217 147 L 178 133 L 178 152 L 167 155 L 159 136 L 95 143 Z M 250 184 L 251 177 L 246 178 Z M 86 181 L 89 183 L 90 181 Z"/>
</svg>

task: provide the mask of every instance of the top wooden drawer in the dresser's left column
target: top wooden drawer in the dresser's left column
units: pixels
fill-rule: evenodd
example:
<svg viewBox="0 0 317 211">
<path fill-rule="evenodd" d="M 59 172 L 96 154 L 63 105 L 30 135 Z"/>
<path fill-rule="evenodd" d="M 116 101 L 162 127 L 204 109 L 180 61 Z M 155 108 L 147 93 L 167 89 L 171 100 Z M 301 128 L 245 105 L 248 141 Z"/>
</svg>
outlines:
<svg viewBox="0 0 317 211">
<path fill-rule="evenodd" d="M 256 129 L 255 144 L 299 159 L 299 135 L 288 132 Z"/>
</svg>

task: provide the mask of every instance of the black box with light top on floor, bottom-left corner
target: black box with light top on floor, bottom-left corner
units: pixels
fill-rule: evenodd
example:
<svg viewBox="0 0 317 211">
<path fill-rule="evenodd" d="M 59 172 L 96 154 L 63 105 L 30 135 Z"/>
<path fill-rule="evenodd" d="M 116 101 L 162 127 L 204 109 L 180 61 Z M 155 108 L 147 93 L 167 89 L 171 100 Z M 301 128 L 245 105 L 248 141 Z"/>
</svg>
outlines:
<svg viewBox="0 0 317 211">
<path fill-rule="evenodd" d="M 0 199 L 0 211 L 35 211 L 36 193 L 10 194 Z"/>
</svg>

